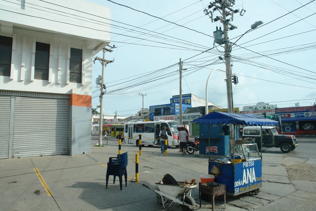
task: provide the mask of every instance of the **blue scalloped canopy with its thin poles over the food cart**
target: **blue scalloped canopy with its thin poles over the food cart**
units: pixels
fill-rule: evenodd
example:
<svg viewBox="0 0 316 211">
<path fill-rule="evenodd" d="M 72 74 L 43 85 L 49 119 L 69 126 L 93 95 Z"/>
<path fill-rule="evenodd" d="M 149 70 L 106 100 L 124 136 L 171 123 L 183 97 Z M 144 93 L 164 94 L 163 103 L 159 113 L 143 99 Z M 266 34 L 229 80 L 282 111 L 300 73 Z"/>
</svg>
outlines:
<svg viewBox="0 0 316 211">
<path fill-rule="evenodd" d="M 266 119 L 264 117 L 260 117 L 260 116 L 256 116 L 252 114 L 232 114 L 232 113 L 224 113 L 224 112 L 217 112 L 217 111 L 213 111 L 212 113 L 208 115 L 197 118 L 193 120 L 193 123 L 200 123 L 200 124 L 225 123 L 225 124 L 233 124 L 233 125 L 252 125 L 252 126 L 263 126 L 263 125 L 277 126 L 279 124 L 279 122 L 277 121 Z M 262 136 L 261 136 L 261 144 L 262 144 Z M 210 138 L 209 138 L 209 145 L 210 145 Z M 261 147 L 261 157 L 262 157 L 262 147 Z M 209 158 L 210 158 L 210 151 L 209 151 Z"/>
</svg>

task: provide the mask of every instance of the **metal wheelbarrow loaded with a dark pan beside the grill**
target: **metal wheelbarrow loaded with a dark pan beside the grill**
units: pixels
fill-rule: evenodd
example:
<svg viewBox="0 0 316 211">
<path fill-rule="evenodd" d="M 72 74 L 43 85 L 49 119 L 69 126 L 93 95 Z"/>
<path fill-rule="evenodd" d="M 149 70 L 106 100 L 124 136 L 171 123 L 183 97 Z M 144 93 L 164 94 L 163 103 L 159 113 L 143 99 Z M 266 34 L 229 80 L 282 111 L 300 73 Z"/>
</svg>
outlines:
<svg viewBox="0 0 316 211">
<path fill-rule="evenodd" d="M 191 197 L 191 190 L 192 188 L 195 188 L 197 184 L 185 185 L 185 182 L 177 183 L 178 185 L 155 183 L 155 188 L 149 187 L 145 184 L 143 184 L 143 186 L 157 194 L 157 201 L 162 204 L 165 210 L 165 203 L 169 200 L 172 202 L 170 203 L 167 210 L 171 207 L 173 202 L 178 203 L 178 206 L 180 205 L 181 210 L 193 210 L 199 208 L 199 206 L 196 205 L 194 199 Z M 178 199 L 180 197 L 181 199 Z"/>
</svg>

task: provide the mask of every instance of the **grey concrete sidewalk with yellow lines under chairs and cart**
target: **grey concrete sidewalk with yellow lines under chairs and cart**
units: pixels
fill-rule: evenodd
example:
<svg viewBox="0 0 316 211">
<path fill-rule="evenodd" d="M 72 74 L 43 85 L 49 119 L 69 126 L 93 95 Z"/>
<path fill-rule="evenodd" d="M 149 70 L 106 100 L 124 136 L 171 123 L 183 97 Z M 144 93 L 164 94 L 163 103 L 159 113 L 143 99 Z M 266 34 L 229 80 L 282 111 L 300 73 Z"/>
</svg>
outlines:
<svg viewBox="0 0 316 211">
<path fill-rule="evenodd" d="M 93 141 L 97 143 L 96 141 Z M 93 143 L 92 143 L 93 145 Z M 139 156 L 139 183 L 135 177 L 135 154 L 138 147 L 122 144 L 122 153 L 128 152 L 128 183 L 119 189 L 119 179 L 112 184 L 110 176 L 105 188 L 106 163 L 116 157 L 118 141 L 109 140 L 106 147 L 92 147 L 92 153 L 70 156 L 46 156 L 0 160 L 1 210 L 163 210 L 156 193 L 142 184 L 155 187 L 164 174 L 171 174 L 177 181 L 196 179 L 208 173 L 208 157 L 180 156 L 179 149 L 168 149 L 168 156 L 160 153 L 159 146 L 143 147 Z M 295 193 L 294 185 L 282 165 L 284 154 L 263 154 L 262 188 L 258 195 L 227 196 L 226 209 L 223 201 L 216 201 L 216 210 L 254 210 L 270 207 L 273 203 L 287 200 Z M 37 172 L 36 172 L 37 171 Z M 198 188 L 192 197 L 199 204 Z M 293 196 L 294 197 L 294 196 Z M 290 197 L 290 200 L 294 200 Z M 202 201 L 202 208 L 209 210 L 210 202 Z M 273 208 L 269 208 L 273 210 Z M 169 210 L 181 210 L 171 207 Z"/>
</svg>

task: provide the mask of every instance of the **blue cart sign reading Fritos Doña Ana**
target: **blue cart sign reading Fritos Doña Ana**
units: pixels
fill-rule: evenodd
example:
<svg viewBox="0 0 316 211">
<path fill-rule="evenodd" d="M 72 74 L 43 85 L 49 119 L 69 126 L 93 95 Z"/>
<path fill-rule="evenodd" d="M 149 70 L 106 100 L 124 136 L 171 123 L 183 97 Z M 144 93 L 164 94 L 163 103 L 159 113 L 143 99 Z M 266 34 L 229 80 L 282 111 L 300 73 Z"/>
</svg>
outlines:
<svg viewBox="0 0 316 211">
<path fill-rule="evenodd" d="M 258 177 L 256 176 L 258 175 Z M 261 187 L 261 164 L 256 161 L 242 163 L 242 168 L 235 171 L 234 193 L 250 191 Z"/>
</svg>

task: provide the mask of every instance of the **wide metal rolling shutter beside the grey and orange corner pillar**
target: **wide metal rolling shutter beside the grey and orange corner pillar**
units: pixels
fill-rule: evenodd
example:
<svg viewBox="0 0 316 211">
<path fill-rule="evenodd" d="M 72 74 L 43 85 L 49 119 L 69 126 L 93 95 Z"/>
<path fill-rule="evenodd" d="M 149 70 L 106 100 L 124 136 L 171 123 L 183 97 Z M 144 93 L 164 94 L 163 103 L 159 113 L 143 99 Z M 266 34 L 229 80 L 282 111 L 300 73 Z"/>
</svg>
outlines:
<svg viewBox="0 0 316 211">
<path fill-rule="evenodd" d="M 68 154 L 69 100 L 15 97 L 13 157 Z"/>
</svg>

